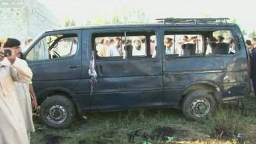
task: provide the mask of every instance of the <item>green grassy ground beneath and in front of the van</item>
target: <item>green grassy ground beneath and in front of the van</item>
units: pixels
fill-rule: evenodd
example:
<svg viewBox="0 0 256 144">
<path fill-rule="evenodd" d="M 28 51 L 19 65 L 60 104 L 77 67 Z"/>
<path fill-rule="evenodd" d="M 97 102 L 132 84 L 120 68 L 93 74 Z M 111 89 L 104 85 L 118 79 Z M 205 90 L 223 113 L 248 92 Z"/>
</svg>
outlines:
<svg viewBox="0 0 256 144">
<path fill-rule="evenodd" d="M 245 143 L 256 141 L 256 105 L 255 97 L 248 96 L 245 110 L 237 108 L 236 102 L 224 104 L 215 115 L 200 122 L 186 120 L 177 109 L 140 109 L 118 112 L 88 113 L 83 120 L 78 120 L 69 129 L 49 129 L 38 122 L 35 116 L 36 132 L 31 134 L 33 144 L 143 144 L 146 138 L 154 144 L 163 143 L 236 143 L 237 133 L 244 134 Z M 241 106 L 241 105 L 240 105 Z M 160 129 L 160 130 L 159 130 Z M 156 131 L 166 129 L 174 132 L 172 141 L 157 137 Z M 134 131 L 140 136 L 134 136 Z M 172 131 L 174 130 L 174 131 Z M 165 131 L 165 130 L 163 130 Z M 155 132 L 155 133 L 154 133 Z M 161 134 L 160 134 L 161 135 Z M 163 136 L 164 134 L 162 134 Z"/>
</svg>

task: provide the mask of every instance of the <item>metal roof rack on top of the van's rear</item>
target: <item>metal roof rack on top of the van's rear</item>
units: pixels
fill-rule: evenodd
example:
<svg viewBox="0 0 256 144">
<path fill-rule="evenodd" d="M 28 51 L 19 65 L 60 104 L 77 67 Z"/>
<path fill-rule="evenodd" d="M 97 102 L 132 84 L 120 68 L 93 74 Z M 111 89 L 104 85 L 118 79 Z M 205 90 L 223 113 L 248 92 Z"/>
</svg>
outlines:
<svg viewBox="0 0 256 144">
<path fill-rule="evenodd" d="M 203 23 L 203 24 L 227 24 L 227 20 L 229 18 L 163 18 L 163 19 L 156 19 L 157 22 L 163 22 L 163 24 L 166 23 L 191 23 L 194 22 L 194 24 Z"/>
</svg>

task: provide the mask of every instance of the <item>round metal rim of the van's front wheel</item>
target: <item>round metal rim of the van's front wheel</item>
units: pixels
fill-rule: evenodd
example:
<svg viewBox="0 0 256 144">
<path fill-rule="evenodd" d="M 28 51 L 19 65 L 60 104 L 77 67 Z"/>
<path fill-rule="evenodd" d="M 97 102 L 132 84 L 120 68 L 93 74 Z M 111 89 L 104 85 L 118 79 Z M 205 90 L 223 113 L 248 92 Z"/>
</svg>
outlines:
<svg viewBox="0 0 256 144">
<path fill-rule="evenodd" d="M 60 105 L 51 106 L 51 108 L 49 108 L 45 114 L 47 120 L 53 124 L 61 124 L 67 118 L 67 110 Z"/>
</svg>

